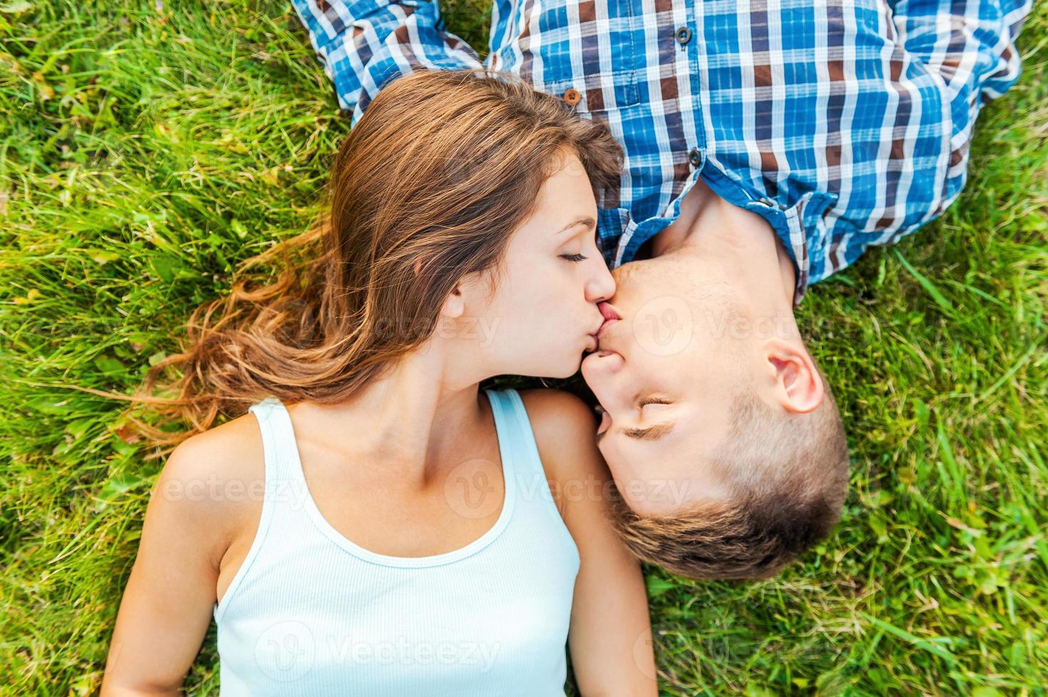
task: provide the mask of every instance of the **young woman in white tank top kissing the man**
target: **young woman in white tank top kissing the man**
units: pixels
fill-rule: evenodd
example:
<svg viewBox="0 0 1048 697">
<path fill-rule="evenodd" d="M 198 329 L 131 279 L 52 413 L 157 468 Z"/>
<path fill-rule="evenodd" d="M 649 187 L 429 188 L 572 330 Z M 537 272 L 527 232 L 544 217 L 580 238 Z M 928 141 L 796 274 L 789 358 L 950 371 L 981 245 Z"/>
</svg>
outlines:
<svg viewBox="0 0 1048 697">
<path fill-rule="evenodd" d="M 595 347 L 614 290 L 596 195 L 619 148 L 478 72 L 383 89 L 326 223 L 154 367 L 146 391 L 181 367 L 178 398 L 152 401 L 200 433 L 153 491 L 104 695 L 177 693 L 212 617 L 228 695 L 563 694 L 566 642 L 584 695 L 656 694 L 592 413 L 479 389 L 568 376 Z"/>
</svg>

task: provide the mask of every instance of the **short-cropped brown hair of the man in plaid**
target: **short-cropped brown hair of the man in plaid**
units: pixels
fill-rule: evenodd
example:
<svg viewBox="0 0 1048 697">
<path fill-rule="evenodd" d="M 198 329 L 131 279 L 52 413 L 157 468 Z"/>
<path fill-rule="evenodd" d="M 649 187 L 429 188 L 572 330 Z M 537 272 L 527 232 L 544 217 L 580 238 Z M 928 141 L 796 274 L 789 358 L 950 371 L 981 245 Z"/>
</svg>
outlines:
<svg viewBox="0 0 1048 697">
<path fill-rule="evenodd" d="M 817 368 L 816 368 L 817 370 Z M 613 522 L 640 560 L 689 579 L 766 579 L 824 539 L 848 489 L 848 444 L 825 386 L 808 414 L 777 411 L 754 391 L 732 405 L 709 465 L 728 495 L 676 516 L 640 516 L 617 491 Z"/>
</svg>

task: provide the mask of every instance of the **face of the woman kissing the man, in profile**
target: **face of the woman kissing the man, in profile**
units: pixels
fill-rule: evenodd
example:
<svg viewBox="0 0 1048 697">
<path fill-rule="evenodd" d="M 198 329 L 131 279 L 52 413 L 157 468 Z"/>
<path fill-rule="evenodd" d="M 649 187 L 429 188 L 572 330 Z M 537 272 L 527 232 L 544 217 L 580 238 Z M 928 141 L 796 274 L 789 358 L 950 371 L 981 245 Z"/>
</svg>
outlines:
<svg viewBox="0 0 1048 697">
<path fill-rule="evenodd" d="M 596 200 L 577 156 L 512 234 L 494 292 L 467 307 L 495 374 L 567 377 L 594 350 L 615 282 L 596 247 Z"/>
</svg>

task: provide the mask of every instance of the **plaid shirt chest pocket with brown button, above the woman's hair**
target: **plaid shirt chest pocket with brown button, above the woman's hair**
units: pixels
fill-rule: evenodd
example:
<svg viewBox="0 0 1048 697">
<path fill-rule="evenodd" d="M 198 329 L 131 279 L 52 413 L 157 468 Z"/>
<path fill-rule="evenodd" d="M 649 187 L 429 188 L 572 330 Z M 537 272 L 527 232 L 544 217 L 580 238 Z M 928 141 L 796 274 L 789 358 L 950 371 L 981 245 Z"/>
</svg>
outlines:
<svg viewBox="0 0 1048 697">
<path fill-rule="evenodd" d="M 609 16 L 615 3 L 603 0 L 517 6 L 519 73 L 536 89 L 581 112 L 611 111 L 640 101 L 637 81 L 645 57 L 638 8 L 626 1 Z"/>
</svg>

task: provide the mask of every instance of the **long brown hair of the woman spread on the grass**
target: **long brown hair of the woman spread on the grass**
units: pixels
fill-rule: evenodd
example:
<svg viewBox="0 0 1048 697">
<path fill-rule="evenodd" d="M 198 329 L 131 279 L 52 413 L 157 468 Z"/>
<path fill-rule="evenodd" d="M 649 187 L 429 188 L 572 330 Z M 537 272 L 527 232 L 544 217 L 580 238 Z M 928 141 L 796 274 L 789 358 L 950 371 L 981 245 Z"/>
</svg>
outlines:
<svg viewBox="0 0 1048 697">
<path fill-rule="evenodd" d="M 621 171 L 602 122 L 498 70 L 394 80 L 343 140 L 324 219 L 245 260 L 230 293 L 192 313 L 181 351 L 130 397 L 128 421 L 173 446 L 265 396 L 347 400 L 425 342 L 462 277 L 498 267 L 567 152 L 601 202 Z M 259 264 L 282 270 L 259 282 L 248 274 Z M 152 423 L 130 414 L 138 405 Z M 189 430 L 163 429 L 173 421 Z"/>
</svg>

